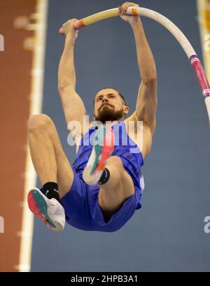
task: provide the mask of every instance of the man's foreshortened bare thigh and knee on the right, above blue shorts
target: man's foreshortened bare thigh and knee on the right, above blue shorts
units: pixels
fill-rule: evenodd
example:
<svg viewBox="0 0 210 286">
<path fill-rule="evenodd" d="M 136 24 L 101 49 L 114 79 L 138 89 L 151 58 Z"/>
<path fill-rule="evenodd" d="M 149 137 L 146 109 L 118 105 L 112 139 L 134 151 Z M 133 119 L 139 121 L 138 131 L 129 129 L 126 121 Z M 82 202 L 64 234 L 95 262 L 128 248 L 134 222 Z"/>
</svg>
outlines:
<svg viewBox="0 0 210 286">
<path fill-rule="evenodd" d="M 111 156 L 106 162 L 106 168 L 109 169 L 110 177 L 99 190 L 99 206 L 106 217 L 110 217 L 135 190 L 133 180 L 123 168 L 120 157 Z"/>
</svg>

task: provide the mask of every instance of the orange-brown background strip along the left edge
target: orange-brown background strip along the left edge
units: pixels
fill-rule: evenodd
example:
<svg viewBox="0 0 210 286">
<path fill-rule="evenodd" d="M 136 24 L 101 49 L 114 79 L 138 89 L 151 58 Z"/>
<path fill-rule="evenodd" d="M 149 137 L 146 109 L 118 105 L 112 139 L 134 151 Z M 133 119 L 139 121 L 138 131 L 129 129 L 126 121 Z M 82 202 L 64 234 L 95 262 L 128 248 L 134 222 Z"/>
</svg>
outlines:
<svg viewBox="0 0 210 286">
<path fill-rule="evenodd" d="M 25 38 L 34 31 L 15 29 L 15 17 L 35 12 L 36 0 L 0 1 L 0 271 L 17 271 L 19 264 L 24 173 L 29 117 L 31 64 L 33 52 L 25 50 Z"/>
</svg>

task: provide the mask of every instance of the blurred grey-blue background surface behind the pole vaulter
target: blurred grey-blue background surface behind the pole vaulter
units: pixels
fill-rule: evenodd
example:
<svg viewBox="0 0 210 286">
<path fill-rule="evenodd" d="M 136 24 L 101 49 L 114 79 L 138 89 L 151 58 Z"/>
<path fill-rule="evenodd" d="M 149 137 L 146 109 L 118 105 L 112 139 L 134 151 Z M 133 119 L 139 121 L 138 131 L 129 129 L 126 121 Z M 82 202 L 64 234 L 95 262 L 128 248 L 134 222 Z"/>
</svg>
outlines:
<svg viewBox="0 0 210 286">
<path fill-rule="evenodd" d="M 78 19 L 117 7 L 123 1 L 50 0 L 45 57 L 43 113 L 54 120 L 72 163 L 66 123 L 57 93 L 57 67 L 64 38 L 57 33 L 69 18 Z M 201 56 L 194 0 L 141 0 L 141 6 L 169 17 Z M 169 32 L 143 19 L 158 71 L 157 128 L 143 168 L 142 208 L 112 234 L 85 232 L 66 225 L 55 234 L 35 220 L 31 271 L 209 271 L 210 215 L 209 126 L 188 59 Z M 134 111 L 139 87 L 134 36 L 120 18 L 104 20 L 79 32 L 75 46 L 77 91 L 87 113 L 101 87 L 125 94 Z"/>
</svg>

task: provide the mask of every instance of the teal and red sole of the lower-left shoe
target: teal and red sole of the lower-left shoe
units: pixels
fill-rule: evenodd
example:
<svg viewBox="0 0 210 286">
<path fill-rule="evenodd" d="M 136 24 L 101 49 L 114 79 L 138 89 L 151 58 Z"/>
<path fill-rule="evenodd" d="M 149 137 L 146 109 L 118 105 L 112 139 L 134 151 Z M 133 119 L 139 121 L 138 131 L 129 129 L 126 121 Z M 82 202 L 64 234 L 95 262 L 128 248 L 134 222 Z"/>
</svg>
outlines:
<svg viewBox="0 0 210 286">
<path fill-rule="evenodd" d="M 43 194 L 40 190 L 33 189 L 28 194 L 29 209 L 38 219 L 42 220 L 48 228 L 57 230 L 61 228 L 60 224 L 52 222 L 48 215 L 48 204 L 43 198 Z"/>
</svg>

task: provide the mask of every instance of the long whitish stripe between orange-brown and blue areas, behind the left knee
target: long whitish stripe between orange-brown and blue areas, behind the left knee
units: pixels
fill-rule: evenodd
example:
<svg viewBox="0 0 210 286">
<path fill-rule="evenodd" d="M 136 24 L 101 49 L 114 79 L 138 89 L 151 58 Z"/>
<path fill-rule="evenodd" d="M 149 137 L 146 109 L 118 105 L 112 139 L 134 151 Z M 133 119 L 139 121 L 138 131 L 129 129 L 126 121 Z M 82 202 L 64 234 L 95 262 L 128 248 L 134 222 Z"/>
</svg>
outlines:
<svg viewBox="0 0 210 286">
<path fill-rule="evenodd" d="M 31 96 L 29 115 L 41 113 L 42 110 L 42 98 L 43 98 L 43 75 L 44 75 L 44 63 L 45 63 L 45 38 L 46 38 L 46 26 L 48 17 L 48 0 L 37 0 L 36 13 L 38 13 L 38 25 L 34 31 L 36 44 L 34 47 L 34 57 L 32 71 L 40 71 L 38 73 L 31 73 Z M 26 173 L 30 176 L 25 176 L 25 194 L 24 202 L 27 202 L 27 194 L 31 187 L 36 186 L 36 172 L 31 162 L 31 156 L 29 148 L 27 147 L 27 162 Z M 15 266 L 20 272 L 28 272 L 31 269 L 31 247 L 34 231 L 34 215 L 30 212 L 27 203 L 23 203 L 22 211 L 22 231 L 21 243 L 20 243 L 20 261 L 19 265 Z M 20 235 L 19 234 L 19 235 Z"/>
</svg>

